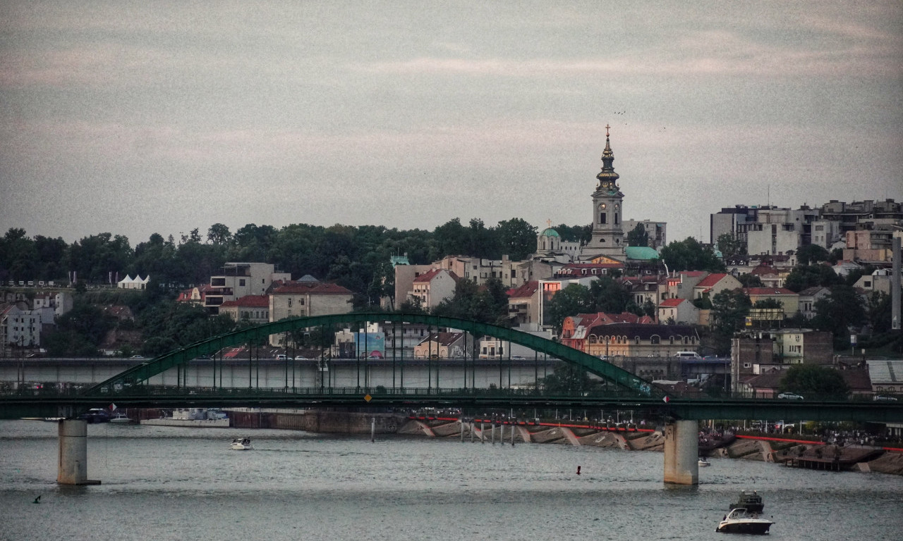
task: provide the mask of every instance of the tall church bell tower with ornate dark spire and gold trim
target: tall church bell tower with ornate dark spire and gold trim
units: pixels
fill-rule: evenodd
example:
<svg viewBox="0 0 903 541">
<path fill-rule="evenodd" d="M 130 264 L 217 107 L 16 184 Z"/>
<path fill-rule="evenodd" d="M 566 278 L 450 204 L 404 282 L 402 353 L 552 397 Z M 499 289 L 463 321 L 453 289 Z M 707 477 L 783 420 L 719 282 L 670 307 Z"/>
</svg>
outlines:
<svg viewBox="0 0 903 541">
<path fill-rule="evenodd" d="M 609 141 L 610 126 L 605 126 L 605 150 L 602 151 L 602 170 L 596 179 L 599 184 L 592 192 L 592 239 L 583 247 L 582 259 L 591 259 L 599 255 L 609 256 L 620 261 L 624 259 L 624 194 L 618 186 L 619 175 L 612 162 L 615 160 Z"/>
</svg>

